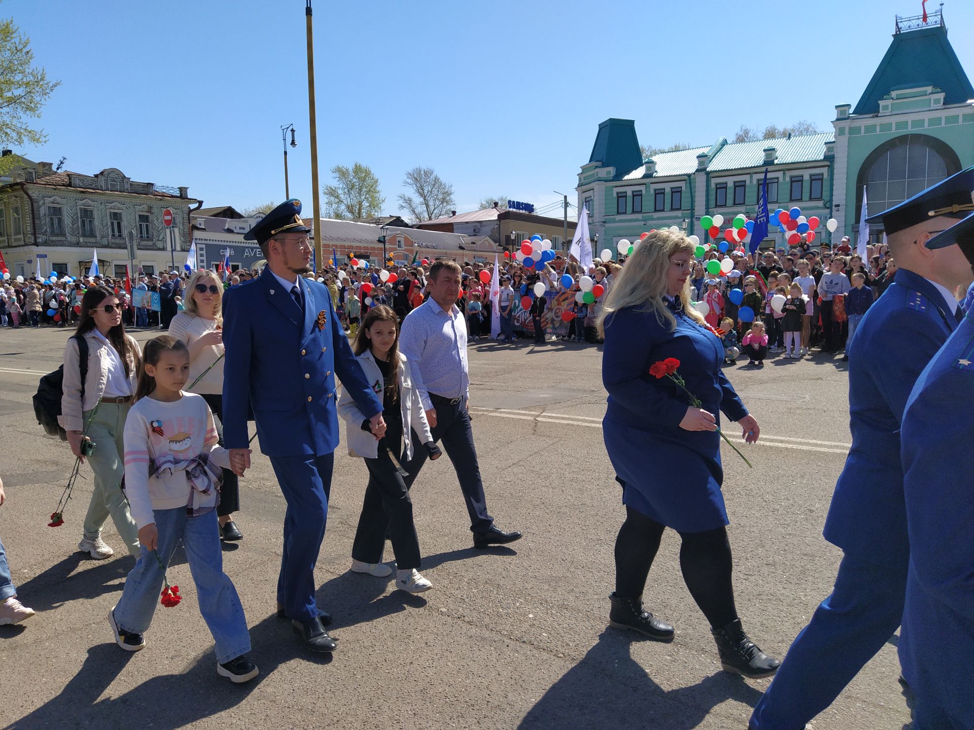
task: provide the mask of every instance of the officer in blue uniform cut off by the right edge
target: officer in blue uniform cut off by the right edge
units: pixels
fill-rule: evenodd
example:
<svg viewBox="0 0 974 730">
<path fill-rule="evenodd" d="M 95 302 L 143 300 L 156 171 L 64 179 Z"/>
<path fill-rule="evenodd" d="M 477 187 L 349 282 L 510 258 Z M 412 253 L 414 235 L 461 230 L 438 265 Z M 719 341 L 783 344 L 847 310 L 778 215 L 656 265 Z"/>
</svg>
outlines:
<svg viewBox="0 0 974 730">
<path fill-rule="evenodd" d="M 974 209 L 974 197 L 968 209 Z M 955 245 L 956 244 L 956 245 Z M 974 276 L 974 215 L 931 238 Z M 974 311 L 920 374 L 903 415 L 910 572 L 900 663 L 915 730 L 974 727 Z"/>
</svg>

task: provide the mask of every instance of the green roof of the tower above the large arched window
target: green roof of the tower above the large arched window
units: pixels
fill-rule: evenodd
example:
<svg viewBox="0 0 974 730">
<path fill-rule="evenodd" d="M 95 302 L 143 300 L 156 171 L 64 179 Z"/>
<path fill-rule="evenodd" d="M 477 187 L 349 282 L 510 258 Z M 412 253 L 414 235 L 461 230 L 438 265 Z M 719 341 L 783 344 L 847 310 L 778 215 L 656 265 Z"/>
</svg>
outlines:
<svg viewBox="0 0 974 730">
<path fill-rule="evenodd" d="M 895 33 L 852 113 L 877 114 L 880 99 L 889 91 L 927 86 L 944 91 L 945 104 L 974 98 L 974 87 L 947 40 L 944 25 Z"/>
</svg>

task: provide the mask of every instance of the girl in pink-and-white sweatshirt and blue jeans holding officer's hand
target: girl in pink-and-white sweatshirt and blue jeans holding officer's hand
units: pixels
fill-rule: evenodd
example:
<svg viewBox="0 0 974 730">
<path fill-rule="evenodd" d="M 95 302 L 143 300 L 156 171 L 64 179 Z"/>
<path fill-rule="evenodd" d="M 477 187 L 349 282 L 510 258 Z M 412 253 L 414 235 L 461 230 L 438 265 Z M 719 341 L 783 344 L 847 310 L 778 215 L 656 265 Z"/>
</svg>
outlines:
<svg viewBox="0 0 974 730">
<path fill-rule="evenodd" d="M 220 467 L 244 473 L 244 458 L 217 444 L 213 415 L 202 395 L 184 393 L 189 350 L 169 335 L 145 346 L 135 405 L 125 424 L 125 483 L 141 553 L 118 604 L 108 612 L 115 641 L 126 651 L 145 647 L 159 601 L 170 595 L 166 569 L 181 541 L 200 613 L 216 644 L 216 673 L 233 682 L 257 675 L 247 657 L 250 635 L 237 589 L 223 572 L 216 519 Z"/>
</svg>

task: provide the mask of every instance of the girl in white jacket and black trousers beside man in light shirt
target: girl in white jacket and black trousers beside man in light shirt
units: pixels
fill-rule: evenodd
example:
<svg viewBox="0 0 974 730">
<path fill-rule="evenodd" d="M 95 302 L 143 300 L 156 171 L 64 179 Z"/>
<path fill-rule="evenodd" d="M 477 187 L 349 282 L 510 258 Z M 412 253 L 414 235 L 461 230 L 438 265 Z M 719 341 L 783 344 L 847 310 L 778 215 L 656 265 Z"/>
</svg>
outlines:
<svg viewBox="0 0 974 730">
<path fill-rule="evenodd" d="M 440 456 L 433 443 L 430 424 L 413 387 L 409 363 L 399 353 L 398 317 L 385 305 L 368 310 L 356 334 L 353 349 L 358 364 L 376 395 L 383 394 L 386 434 L 372 434 L 369 420 L 356 406 L 347 389 L 338 401 L 345 420 L 351 456 L 365 459 L 368 487 L 352 545 L 352 569 L 385 577 L 393 572 L 382 564 L 387 530 L 395 554 L 395 587 L 409 593 L 429 591 L 432 584 L 420 572 L 420 543 L 413 523 L 413 503 L 403 481 L 408 476 L 401 464 L 416 448 L 426 449 L 431 459 Z M 419 438 L 422 443 L 416 444 Z"/>
</svg>

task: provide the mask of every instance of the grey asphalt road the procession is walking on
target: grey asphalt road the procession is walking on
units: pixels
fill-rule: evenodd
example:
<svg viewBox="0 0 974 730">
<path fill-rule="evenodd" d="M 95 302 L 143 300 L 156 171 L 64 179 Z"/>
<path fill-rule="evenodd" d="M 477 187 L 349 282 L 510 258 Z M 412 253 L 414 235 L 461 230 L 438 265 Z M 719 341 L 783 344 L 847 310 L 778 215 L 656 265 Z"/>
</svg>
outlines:
<svg viewBox="0 0 974 730">
<path fill-rule="evenodd" d="M 47 527 L 73 457 L 43 435 L 31 395 L 60 362 L 64 330 L 0 331 L 0 534 L 23 602 L 38 615 L 0 627 L 0 726 L 38 728 L 744 728 L 768 680 L 720 670 L 667 531 L 646 601 L 675 625 L 671 644 L 607 628 L 613 544 L 623 509 L 605 454 L 598 347 L 471 346 L 471 413 L 488 506 L 510 549 L 475 551 L 448 459 L 413 490 L 424 574 L 413 597 L 349 572 L 365 488 L 362 463 L 336 453 L 318 602 L 335 616 L 331 659 L 305 653 L 275 617 L 284 500 L 265 456 L 242 482 L 244 541 L 224 566 L 244 602 L 261 675 L 215 673 L 212 641 L 185 560 L 170 578 L 185 601 L 158 607 L 147 647 L 119 649 L 106 621 L 129 557 L 76 552 L 91 493 L 79 482 L 65 525 Z M 153 333 L 136 333 L 146 340 Z M 821 536 L 849 442 L 839 359 L 768 360 L 731 382 L 762 425 L 749 469 L 725 449 L 734 585 L 744 625 L 782 656 L 828 593 L 841 557 Z M 255 442 L 256 444 L 256 442 Z M 742 445 L 742 449 L 745 447 Z M 679 472 L 674 464 L 661 469 Z M 111 522 L 103 536 L 125 550 Z M 392 548 L 386 558 L 393 560 Z M 896 638 L 815 728 L 900 728 Z"/>
</svg>

